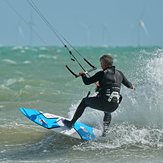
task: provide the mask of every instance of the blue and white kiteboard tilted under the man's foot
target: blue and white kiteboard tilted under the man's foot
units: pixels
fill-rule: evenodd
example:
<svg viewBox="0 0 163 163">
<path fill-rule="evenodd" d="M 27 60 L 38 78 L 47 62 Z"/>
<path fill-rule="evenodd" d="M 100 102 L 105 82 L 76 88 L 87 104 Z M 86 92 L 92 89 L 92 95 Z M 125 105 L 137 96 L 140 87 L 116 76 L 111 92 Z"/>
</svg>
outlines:
<svg viewBox="0 0 163 163">
<path fill-rule="evenodd" d="M 66 119 L 64 117 L 28 108 L 20 108 L 20 111 L 36 124 L 73 138 L 87 141 L 94 140 L 102 135 L 101 130 L 79 121 L 77 121 L 74 126 L 69 129 L 63 123 L 63 120 Z"/>
</svg>

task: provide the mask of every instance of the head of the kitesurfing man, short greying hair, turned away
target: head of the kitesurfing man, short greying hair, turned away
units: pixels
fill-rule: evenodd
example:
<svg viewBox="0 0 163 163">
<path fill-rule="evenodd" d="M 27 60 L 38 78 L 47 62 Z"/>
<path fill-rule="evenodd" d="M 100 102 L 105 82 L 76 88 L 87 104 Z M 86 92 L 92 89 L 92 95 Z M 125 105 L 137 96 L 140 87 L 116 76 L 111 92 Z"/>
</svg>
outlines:
<svg viewBox="0 0 163 163">
<path fill-rule="evenodd" d="M 105 70 L 113 65 L 113 57 L 110 54 L 103 55 L 100 57 L 101 68 Z"/>
</svg>

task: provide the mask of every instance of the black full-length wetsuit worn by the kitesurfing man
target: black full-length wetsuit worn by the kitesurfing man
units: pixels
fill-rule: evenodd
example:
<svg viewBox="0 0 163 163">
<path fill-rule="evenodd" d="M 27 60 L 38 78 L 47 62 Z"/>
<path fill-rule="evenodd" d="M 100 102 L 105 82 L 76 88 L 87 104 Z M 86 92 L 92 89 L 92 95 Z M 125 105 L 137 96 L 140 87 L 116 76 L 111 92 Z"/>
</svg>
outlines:
<svg viewBox="0 0 163 163">
<path fill-rule="evenodd" d="M 72 126 L 77 121 L 77 119 L 83 114 L 86 107 L 104 111 L 104 125 L 109 125 L 111 121 L 111 113 L 119 106 L 119 102 L 116 100 L 110 102 L 108 101 L 110 94 L 113 91 L 120 94 L 121 83 L 128 88 L 133 88 L 132 84 L 126 79 L 123 73 L 116 70 L 114 66 L 109 67 L 104 71 L 99 71 L 92 77 L 83 75 L 82 79 L 86 85 L 99 82 L 99 93 L 95 97 L 86 97 L 82 99 L 68 126 Z"/>
</svg>

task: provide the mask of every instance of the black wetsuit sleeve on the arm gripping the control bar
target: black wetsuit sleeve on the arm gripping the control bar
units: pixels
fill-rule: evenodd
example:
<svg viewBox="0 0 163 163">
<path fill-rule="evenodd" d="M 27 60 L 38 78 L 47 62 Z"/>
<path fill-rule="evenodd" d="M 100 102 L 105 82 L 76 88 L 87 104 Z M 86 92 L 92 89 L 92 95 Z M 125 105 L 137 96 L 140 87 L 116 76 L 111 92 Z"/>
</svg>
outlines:
<svg viewBox="0 0 163 163">
<path fill-rule="evenodd" d="M 93 75 L 92 77 L 87 77 L 86 75 L 83 75 L 82 76 L 82 79 L 83 79 L 83 83 L 85 85 L 89 85 L 89 84 L 92 84 L 92 83 L 95 83 L 97 81 L 100 81 L 101 78 L 103 77 L 104 75 L 104 72 L 103 71 L 99 71 L 97 72 L 95 75 Z"/>
</svg>

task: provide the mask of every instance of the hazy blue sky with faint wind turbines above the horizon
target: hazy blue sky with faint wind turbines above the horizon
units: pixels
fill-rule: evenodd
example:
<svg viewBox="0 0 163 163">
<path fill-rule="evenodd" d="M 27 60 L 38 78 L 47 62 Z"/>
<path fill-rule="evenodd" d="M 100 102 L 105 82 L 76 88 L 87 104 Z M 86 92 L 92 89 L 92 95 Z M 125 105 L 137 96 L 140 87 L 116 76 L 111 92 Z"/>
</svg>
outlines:
<svg viewBox="0 0 163 163">
<path fill-rule="evenodd" d="M 163 46 L 163 0 L 33 0 L 72 45 Z M 61 45 L 27 0 L 0 0 L 0 45 Z"/>
</svg>

